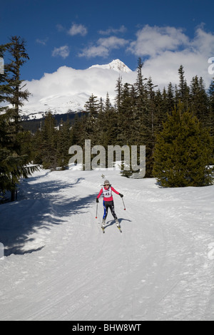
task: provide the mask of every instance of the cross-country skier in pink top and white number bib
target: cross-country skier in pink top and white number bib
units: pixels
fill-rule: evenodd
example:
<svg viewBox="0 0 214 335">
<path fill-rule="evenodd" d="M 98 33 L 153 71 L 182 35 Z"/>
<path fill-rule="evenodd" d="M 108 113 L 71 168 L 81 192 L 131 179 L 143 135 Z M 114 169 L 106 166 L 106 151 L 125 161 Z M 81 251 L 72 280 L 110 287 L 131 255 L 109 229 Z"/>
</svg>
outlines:
<svg viewBox="0 0 214 335">
<path fill-rule="evenodd" d="M 106 217 L 108 215 L 108 207 L 111 210 L 111 214 L 113 215 L 114 220 L 116 221 L 116 225 L 118 228 L 120 228 L 120 224 L 118 222 L 118 217 L 116 216 L 116 212 L 114 211 L 114 204 L 113 204 L 113 195 L 112 191 L 115 192 L 117 195 L 120 195 L 120 197 L 123 197 L 121 193 L 116 191 L 111 185 L 108 180 L 105 180 L 103 188 L 101 188 L 98 196 L 96 197 L 96 202 L 99 202 L 99 197 L 103 193 L 103 208 L 104 208 L 104 214 L 103 214 L 103 222 L 101 227 L 104 228 L 106 224 Z"/>
</svg>

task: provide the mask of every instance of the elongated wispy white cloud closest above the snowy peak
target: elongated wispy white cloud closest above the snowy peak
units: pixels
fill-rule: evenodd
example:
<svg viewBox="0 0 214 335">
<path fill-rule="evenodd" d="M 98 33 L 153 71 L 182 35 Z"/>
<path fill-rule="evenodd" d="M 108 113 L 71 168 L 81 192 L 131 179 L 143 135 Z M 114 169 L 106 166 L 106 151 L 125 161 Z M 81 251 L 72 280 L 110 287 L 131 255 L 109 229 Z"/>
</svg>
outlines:
<svg viewBox="0 0 214 335">
<path fill-rule="evenodd" d="M 124 38 L 118 38 L 116 36 L 110 36 L 108 38 L 99 38 L 95 46 L 88 46 L 84 48 L 81 53 L 78 54 L 80 57 L 107 57 L 111 50 L 122 48 L 126 46 L 128 41 Z"/>
</svg>

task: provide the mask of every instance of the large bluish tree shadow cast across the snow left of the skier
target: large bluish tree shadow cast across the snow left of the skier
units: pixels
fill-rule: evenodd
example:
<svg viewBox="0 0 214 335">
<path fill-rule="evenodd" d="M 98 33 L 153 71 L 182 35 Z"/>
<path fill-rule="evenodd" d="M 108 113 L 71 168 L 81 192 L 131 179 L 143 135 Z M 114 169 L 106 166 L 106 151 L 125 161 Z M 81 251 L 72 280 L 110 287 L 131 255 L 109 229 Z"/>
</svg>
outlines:
<svg viewBox="0 0 214 335">
<path fill-rule="evenodd" d="M 71 199 L 58 195 L 59 191 L 64 189 L 66 192 L 66 188 L 70 190 L 83 179 L 70 184 L 56 180 L 26 185 L 24 200 L 1 205 L 0 242 L 4 244 L 4 255 L 43 249 L 54 225 L 63 225 L 71 215 L 86 212 L 95 202 L 96 193 Z M 31 181 L 34 180 L 36 177 L 31 178 Z"/>
</svg>

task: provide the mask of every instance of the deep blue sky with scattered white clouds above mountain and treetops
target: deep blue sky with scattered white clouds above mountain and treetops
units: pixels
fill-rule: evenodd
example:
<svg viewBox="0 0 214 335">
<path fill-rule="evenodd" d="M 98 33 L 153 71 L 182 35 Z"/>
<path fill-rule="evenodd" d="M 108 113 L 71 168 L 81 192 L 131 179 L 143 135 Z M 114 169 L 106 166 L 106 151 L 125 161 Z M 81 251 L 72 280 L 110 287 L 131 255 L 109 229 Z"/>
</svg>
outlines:
<svg viewBox="0 0 214 335">
<path fill-rule="evenodd" d="M 138 57 L 153 64 L 157 80 L 158 69 L 182 62 L 190 76 L 208 76 L 213 10 L 212 0 L 1 0 L 0 43 L 14 35 L 26 40 L 30 60 L 21 73 L 28 81 L 61 66 L 85 69 L 116 58 L 135 70 Z"/>
</svg>

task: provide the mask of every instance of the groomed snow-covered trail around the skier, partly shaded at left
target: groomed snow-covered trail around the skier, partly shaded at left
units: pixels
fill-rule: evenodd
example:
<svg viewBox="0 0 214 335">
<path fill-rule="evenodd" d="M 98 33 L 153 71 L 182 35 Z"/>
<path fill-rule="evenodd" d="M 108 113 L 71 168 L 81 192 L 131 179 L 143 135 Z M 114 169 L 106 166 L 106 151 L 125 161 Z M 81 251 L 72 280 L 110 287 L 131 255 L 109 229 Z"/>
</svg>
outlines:
<svg viewBox="0 0 214 335">
<path fill-rule="evenodd" d="M 96 216 L 105 174 L 111 213 Z M 0 320 L 213 320 L 214 187 L 161 189 L 115 171 L 36 172 L 0 207 Z"/>
</svg>

